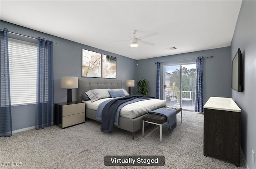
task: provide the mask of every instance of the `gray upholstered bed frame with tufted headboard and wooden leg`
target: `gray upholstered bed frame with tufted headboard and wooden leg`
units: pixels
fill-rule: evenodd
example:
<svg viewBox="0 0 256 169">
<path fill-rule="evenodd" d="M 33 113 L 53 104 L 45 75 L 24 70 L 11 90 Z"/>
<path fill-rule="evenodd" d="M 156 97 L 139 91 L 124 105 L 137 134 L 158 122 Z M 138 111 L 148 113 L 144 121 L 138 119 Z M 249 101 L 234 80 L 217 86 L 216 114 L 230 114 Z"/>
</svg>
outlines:
<svg viewBox="0 0 256 169">
<path fill-rule="evenodd" d="M 88 102 L 88 101 L 84 101 L 84 99 L 83 99 L 83 94 L 85 92 L 87 92 L 89 90 L 93 90 L 93 89 L 106 89 L 106 88 L 111 89 L 111 90 L 121 89 L 122 81 L 109 80 L 109 79 L 78 79 L 78 90 L 77 90 L 78 102 Z M 107 98 L 104 98 L 104 99 L 106 100 Z M 159 99 L 157 99 L 157 100 L 160 101 L 157 108 L 166 106 L 166 100 L 159 100 Z M 90 103 L 90 102 L 91 101 L 89 100 L 88 103 Z M 100 102 L 100 101 L 97 100 L 97 101 L 95 101 L 95 103 L 96 102 Z M 94 103 L 94 102 L 92 102 L 92 103 Z M 134 103 L 134 104 L 138 104 L 138 103 Z M 128 105 L 126 105 L 126 106 L 128 106 Z M 154 110 L 157 108 L 154 108 Z M 97 120 L 97 118 L 96 118 L 96 114 L 97 114 L 96 109 L 97 109 L 97 106 L 95 106 L 95 105 L 94 106 L 89 105 L 89 104 L 86 105 L 86 108 L 85 108 L 86 118 L 90 118 L 92 120 L 101 122 L 100 120 Z M 121 116 L 121 110 L 120 110 L 118 126 L 117 125 L 114 125 L 114 126 L 117 128 L 129 131 L 129 132 L 132 132 L 132 140 L 134 140 L 135 132 L 142 129 L 142 117 L 146 115 L 146 112 L 140 114 L 140 116 L 131 118 L 131 117 L 126 117 L 126 116 Z M 145 111 L 147 111 L 147 110 L 145 110 Z"/>
</svg>

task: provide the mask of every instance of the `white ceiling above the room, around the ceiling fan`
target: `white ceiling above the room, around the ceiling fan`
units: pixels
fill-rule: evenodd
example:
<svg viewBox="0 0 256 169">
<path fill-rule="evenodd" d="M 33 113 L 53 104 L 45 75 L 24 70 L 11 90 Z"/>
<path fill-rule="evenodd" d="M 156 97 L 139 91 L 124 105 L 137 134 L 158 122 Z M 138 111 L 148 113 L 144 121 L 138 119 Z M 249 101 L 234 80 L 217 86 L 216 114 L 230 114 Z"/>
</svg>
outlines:
<svg viewBox="0 0 256 169">
<path fill-rule="evenodd" d="M 242 0 L 1 0 L 0 18 L 139 60 L 230 46 L 241 4 Z M 138 47 L 130 47 L 133 29 L 137 38 L 157 32 L 143 39 L 156 45 L 139 41 Z M 166 49 L 170 47 L 177 49 Z"/>
</svg>

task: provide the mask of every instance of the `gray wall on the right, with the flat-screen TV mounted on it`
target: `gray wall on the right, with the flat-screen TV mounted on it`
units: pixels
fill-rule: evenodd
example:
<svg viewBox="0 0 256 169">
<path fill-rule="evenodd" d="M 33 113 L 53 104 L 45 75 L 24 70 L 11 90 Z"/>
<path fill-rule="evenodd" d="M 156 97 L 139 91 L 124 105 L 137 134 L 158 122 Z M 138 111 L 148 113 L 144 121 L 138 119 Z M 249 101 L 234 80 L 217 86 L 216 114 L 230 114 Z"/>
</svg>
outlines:
<svg viewBox="0 0 256 169">
<path fill-rule="evenodd" d="M 256 1 L 242 2 L 231 43 L 230 61 L 238 48 L 242 52 L 244 91 L 232 90 L 232 98 L 242 110 L 241 147 L 247 167 L 255 169 L 256 164 L 252 163 L 252 150 L 256 153 Z"/>
</svg>

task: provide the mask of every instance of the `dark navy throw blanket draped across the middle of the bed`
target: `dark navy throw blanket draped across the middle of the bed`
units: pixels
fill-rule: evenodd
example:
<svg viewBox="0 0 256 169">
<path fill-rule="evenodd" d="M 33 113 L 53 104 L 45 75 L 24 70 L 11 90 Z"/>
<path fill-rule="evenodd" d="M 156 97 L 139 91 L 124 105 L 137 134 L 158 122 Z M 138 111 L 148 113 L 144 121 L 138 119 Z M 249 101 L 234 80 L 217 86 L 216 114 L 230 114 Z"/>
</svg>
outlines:
<svg viewBox="0 0 256 169">
<path fill-rule="evenodd" d="M 117 99 L 111 100 L 104 106 L 104 108 L 102 110 L 102 114 L 101 114 L 102 123 L 101 123 L 100 131 L 104 132 L 105 130 L 108 130 L 109 133 L 112 133 L 112 129 L 114 126 L 114 120 L 115 120 L 115 116 L 116 116 L 116 111 L 117 111 L 118 107 L 121 104 L 128 102 L 130 100 L 133 100 L 135 98 L 155 98 L 155 97 L 146 96 L 146 95 L 142 95 L 142 94 L 136 94 L 136 95 L 124 96 L 122 98 L 117 98 Z"/>
</svg>

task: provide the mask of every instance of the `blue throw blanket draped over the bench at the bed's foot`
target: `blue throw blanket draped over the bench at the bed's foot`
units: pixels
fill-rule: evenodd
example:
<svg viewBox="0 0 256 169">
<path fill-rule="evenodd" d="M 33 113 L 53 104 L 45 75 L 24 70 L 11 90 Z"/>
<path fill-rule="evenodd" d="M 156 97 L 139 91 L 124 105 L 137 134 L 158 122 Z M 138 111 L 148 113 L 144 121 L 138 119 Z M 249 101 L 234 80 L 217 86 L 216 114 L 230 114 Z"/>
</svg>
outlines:
<svg viewBox="0 0 256 169">
<path fill-rule="evenodd" d="M 177 126 L 177 117 L 176 117 L 176 111 L 169 109 L 169 108 L 158 108 L 156 110 L 153 110 L 151 112 L 148 112 L 147 114 L 159 114 L 162 116 L 166 116 L 167 122 L 168 122 L 168 133 L 170 134 L 174 128 Z"/>
</svg>

